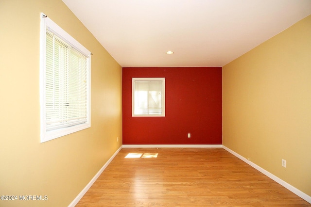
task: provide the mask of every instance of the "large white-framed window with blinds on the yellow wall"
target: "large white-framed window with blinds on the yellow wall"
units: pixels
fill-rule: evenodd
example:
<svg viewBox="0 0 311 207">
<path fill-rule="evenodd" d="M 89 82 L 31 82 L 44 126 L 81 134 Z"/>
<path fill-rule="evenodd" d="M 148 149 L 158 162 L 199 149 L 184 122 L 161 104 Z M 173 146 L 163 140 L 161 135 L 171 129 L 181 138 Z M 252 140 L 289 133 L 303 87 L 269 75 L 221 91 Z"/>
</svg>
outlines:
<svg viewBox="0 0 311 207">
<path fill-rule="evenodd" d="M 90 127 L 90 52 L 41 13 L 41 143 Z"/>
</svg>

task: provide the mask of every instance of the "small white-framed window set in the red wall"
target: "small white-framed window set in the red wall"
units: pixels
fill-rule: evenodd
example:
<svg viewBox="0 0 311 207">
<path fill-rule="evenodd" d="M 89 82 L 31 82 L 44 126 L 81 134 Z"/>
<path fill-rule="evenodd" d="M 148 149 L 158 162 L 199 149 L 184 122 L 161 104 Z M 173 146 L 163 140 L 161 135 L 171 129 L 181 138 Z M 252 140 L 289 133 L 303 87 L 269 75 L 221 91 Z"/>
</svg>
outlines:
<svg viewBox="0 0 311 207">
<path fill-rule="evenodd" d="M 132 79 L 132 116 L 165 116 L 165 78 Z"/>
</svg>

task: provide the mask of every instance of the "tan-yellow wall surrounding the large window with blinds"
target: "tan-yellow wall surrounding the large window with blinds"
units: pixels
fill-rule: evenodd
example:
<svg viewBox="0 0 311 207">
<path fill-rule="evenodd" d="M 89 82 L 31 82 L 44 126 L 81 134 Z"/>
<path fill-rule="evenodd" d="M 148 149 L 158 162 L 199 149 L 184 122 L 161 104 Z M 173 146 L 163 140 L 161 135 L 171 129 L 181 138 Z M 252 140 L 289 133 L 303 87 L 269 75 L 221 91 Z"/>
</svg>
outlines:
<svg viewBox="0 0 311 207">
<path fill-rule="evenodd" d="M 40 143 L 40 12 L 90 50 L 91 127 Z M 0 195 L 47 201 L 0 206 L 68 206 L 121 146 L 121 66 L 61 0 L 0 0 Z M 117 142 L 119 137 L 119 142 Z"/>
</svg>

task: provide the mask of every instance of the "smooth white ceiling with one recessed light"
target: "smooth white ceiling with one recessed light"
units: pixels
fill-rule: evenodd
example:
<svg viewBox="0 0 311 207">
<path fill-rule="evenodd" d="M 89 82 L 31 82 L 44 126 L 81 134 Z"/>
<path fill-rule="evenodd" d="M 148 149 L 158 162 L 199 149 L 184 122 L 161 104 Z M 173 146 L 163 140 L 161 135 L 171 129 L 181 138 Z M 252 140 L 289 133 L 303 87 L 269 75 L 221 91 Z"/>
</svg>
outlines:
<svg viewBox="0 0 311 207">
<path fill-rule="evenodd" d="M 122 67 L 224 66 L 311 14 L 311 0 L 63 1 Z"/>
</svg>

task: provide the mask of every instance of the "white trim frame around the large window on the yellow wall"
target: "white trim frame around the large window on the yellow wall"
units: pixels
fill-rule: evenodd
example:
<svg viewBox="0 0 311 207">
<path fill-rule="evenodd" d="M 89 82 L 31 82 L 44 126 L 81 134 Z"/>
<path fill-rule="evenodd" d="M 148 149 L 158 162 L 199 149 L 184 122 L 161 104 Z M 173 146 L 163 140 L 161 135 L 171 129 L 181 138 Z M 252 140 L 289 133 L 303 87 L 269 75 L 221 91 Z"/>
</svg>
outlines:
<svg viewBox="0 0 311 207">
<path fill-rule="evenodd" d="M 52 139 L 56 139 L 70 133 L 80 131 L 82 129 L 86 129 L 91 126 L 91 111 L 90 111 L 90 77 L 91 77 L 91 52 L 88 51 L 84 46 L 82 46 L 78 41 L 76 41 L 73 37 L 71 37 L 67 32 L 65 32 L 61 27 L 59 27 L 56 23 L 54 23 L 49 17 L 40 14 L 40 142 L 47 142 Z M 45 57 L 46 57 L 46 29 L 50 28 L 54 33 L 56 33 L 59 37 L 65 40 L 71 47 L 77 49 L 87 58 L 87 122 L 84 124 L 60 128 L 57 130 L 46 131 L 46 107 L 45 107 Z"/>
</svg>

